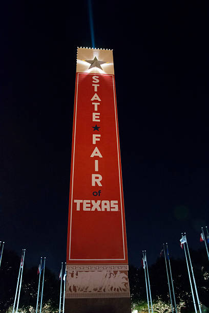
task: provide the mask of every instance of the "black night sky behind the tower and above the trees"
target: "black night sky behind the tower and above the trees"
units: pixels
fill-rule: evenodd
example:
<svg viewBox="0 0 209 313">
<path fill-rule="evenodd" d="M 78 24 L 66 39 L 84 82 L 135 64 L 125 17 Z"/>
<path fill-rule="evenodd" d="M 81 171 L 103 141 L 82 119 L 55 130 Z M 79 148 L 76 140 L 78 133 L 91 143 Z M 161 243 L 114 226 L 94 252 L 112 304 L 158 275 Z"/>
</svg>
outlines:
<svg viewBox="0 0 209 313">
<path fill-rule="evenodd" d="M 208 209 L 208 2 L 94 1 L 96 48 L 113 49 L 129 263 L 183 256 Z M 1 8 L 0 240 L 28 266 L 66 260 L 77 46 L 87 1 Z M 209 226 L 209 225 L 208 225 Z M 203 244 L 203 243 L 202 243 Z"/>
</svg>

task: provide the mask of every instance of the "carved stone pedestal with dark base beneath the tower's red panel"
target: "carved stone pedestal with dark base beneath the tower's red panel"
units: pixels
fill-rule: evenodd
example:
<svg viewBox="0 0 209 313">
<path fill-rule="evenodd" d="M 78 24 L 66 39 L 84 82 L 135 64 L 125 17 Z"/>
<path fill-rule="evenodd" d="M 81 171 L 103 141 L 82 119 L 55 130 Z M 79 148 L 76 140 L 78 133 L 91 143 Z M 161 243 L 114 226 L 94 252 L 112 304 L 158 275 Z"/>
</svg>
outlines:
<svg viewBox="0 0 209 313">
<path fill-rule="evenodd" d="M 128 265 L 67 265 L 65 313 L 131 313 Z"/>
</svg>

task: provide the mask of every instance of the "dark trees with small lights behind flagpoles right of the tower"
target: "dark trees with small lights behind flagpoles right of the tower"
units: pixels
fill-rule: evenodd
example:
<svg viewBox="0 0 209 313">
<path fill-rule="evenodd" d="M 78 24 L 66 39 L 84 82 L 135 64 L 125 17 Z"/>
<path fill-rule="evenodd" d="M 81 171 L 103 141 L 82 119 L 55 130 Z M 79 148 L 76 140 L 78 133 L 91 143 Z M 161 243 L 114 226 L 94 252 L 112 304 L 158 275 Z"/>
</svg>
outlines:
<svg viewBox="0 0 209 313">
<path fill-rule="evenodd" d="M 209 262 L 206 257 L 206 252 L 204 249 L 201 249 L 199 251 L 191 250 L 190 253 L 199 300 L 201 304 L 209 307 Z M 185 311 L 189 310 L 189 312 L 192 312 L 194 310 L 194 304 L 186 261 L 184 258 L 171 258 L 170 261 L 177 306 L 179 306 L 179 308 L 181 307 L 181 311 L 184 309 Z M 171 304 L 164 257 L 158 258 L 156 262 L 149 267 L 149 276 L 154 306 L 157 307 L 156 304 L 158 303 L 158 306 L 164 307 L 164 311 L 169 312 L 166 306 L 169 305 L 171 307 Z M 147 308 L 147 292 L 142 266 L 140 269 L 134 266 L 129 267 L 129 282 L 133 307 L 137 308 L 138 305 L 138 307 Z M 158 312 L 161 312 L 161 310 L 158 310 Z"/>
</svg>

